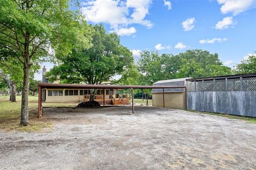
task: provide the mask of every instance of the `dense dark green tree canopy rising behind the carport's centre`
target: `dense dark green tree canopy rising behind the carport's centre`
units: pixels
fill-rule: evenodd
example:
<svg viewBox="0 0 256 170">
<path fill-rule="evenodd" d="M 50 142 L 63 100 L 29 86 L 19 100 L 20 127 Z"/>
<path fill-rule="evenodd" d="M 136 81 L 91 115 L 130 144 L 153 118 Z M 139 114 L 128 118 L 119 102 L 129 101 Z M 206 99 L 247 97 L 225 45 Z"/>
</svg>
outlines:
<svg viewBox="0 0 256 170">
<path fill-rule="evenodd" d="M 60 64 L 46 73 L 50 82 L 59 77 L 62 83 L 101 84 L 130 66 L 132 54 L 120 44 L 116 33 L 107 34 L 102 24 L 92 28 L 93 46 L 83 50 L 73 49 L 67 57 L 58 57 Z"/>
</svg>

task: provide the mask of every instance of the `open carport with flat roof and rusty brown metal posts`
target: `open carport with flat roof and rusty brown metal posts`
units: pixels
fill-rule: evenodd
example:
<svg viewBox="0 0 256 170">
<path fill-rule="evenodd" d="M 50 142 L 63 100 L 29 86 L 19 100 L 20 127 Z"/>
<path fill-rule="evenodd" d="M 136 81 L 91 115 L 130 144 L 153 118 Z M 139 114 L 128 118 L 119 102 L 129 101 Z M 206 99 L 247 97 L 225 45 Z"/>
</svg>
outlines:
<svg viewBox="0 0 256 170">
<path fill-rule="evenodd" d="M 42 89 L 97 89 L 103 90 L 106 89 L 130 89 L 131 90 L 131 99 L 132 99 L 132 113 L 134 113 L 134 89 L 163 89 L 163 107 L 164 107 L 164 90 L 165 89 L 176 89 L 183 88 L 186 91 L 185 86 L 123 86 L 123 85 L 95 85 L 95 84 L 57 84 L 57 83 L 39 83 L 38 84 L 38 118 L 42 117 Z M 84 101 L 87 100 L 88 96 L 84 95 Z M 105 92 L 102 95 L 103 107 L 106 104 Z M 111 98 L 113 100 L 113 98 Z M 119 96 L 118 100 L 123 100 L 122 96 Z M 148 100 L 148 98 L 146 98 Z M 114 99 L 115 102 L 115 99 Z M 148 102 L 147 102 L 148 103 Z"/>
</svg>

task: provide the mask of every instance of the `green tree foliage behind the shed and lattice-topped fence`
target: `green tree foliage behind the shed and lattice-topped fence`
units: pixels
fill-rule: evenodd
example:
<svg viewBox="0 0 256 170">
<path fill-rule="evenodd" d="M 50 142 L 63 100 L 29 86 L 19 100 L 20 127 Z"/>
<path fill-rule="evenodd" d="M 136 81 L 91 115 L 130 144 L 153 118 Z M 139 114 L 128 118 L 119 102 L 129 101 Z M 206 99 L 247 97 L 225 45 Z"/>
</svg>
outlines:
<svg viewBox="0 0 256 170">
<path fill-rule="evenodd" d="M 231 74 L 230 67 L 221 63 L 218 54 L 201 49 L 187 50 L 178 55 L 143 51 L 138 67 L 143 74 L 141 84 L 148 85 L 158 80 Z"/>
</svg>

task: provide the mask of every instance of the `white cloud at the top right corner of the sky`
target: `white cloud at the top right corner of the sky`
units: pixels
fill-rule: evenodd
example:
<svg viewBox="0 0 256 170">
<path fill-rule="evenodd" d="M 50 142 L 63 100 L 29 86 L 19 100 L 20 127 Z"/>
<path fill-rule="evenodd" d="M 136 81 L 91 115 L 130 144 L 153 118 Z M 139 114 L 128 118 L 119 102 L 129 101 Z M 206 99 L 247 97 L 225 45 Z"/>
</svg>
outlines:
<svg viewBox="0 0 256 170">
<path fill-rule="evenodd" d="M 222 14 L 233 13 L 237 15 L 249 9 L 254 0 L 218 0 L 221 4 L 220 11 Z"/>
</svg>

